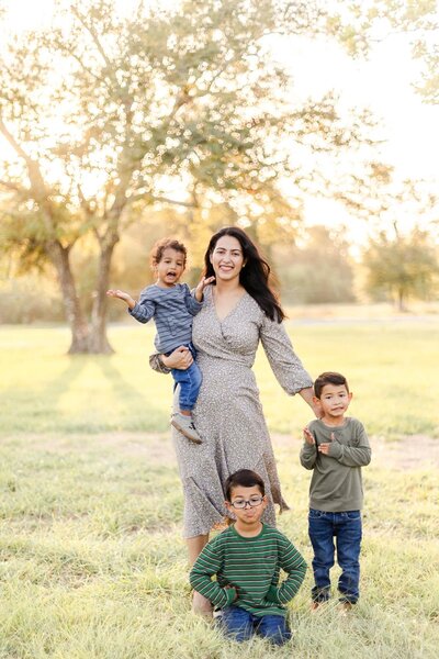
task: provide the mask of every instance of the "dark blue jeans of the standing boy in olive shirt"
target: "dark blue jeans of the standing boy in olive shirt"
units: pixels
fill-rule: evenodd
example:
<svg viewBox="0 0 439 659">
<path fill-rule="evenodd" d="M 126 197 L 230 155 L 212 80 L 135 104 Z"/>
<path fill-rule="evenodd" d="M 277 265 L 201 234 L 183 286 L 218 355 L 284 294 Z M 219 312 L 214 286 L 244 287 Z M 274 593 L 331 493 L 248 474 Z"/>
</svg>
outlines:
<svg viewBox="0 0 439 659">
<path fill-rule="evenodd" d="M 309 509 L 308 532 L 314 549 L 315 585 L 312 590 L 313 600 L 324 602 L 329 597 L 329 570 L 334 566 L 334 538 L 336 538 L 337 562 L 341 568 L 338 580 L 340 600 L 354 604 L 360 594 L 360 511 L 327 513 Z"/>
</svg>

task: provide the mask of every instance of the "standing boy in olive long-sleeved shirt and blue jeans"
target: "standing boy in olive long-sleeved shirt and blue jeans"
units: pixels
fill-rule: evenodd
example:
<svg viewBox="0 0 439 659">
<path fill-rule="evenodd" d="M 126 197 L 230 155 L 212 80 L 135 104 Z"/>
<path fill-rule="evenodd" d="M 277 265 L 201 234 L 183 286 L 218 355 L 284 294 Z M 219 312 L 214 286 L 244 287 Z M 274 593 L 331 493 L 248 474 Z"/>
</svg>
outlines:
<svg viewBox="0 0 439 659">
<path fill-rule="evenodd" d="M 313 470 L 309 485 L 308 533 L 314 549 L 313 608 L 329 599 L 329 570 L 334 566 L 334 537 L 340 602 L 350 608 L 359 597 L 361 507 L 363 488 L 361 467 L 369 465 L 371 449 L 362 424 L 346 417 L 352 394 L 340 373 L 322 373 L 314 383 L 314 402 L 322 417 L 304 429 L 301 463 Z"/>
</svg>

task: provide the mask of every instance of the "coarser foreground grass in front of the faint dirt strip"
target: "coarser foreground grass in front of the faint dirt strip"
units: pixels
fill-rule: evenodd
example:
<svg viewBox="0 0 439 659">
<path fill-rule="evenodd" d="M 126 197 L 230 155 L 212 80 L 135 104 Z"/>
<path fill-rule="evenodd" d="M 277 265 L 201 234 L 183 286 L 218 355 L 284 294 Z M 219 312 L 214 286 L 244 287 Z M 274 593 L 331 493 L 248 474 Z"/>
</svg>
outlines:
<svg viewBox="0 0 439 659">
<path fill-rule="evenodd" d="M 280 527 L 309 562 L 309 474 L 285 445 L 275 450 L 294 504 Z M 256 639 L 237 650 L 190 613 L 168 439 L 24 435 L 3 438 L 0 456 L 0 657 L 437 656 L 437 471 L 364 469 L 362 596 L 352 615 L 342 618 L 335 603 L 312 615 L 308 573 L 291 605 L 293 649 Z"/>
</svg>

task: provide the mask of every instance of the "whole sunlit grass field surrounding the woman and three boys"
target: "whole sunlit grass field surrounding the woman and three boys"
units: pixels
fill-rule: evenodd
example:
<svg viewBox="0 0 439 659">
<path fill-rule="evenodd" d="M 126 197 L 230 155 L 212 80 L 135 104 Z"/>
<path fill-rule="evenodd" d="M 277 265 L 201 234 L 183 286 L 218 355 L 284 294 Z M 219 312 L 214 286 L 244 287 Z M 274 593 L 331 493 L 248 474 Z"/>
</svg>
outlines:
<svg viewBox="0 0 439 659">
<path fill-rule="evenodd" d="M 313 376 L 346 372 L 351 412 L 376 442 L 439 437 L 439 322 L 291 330 Z M 291 605 L 292 646 L 237 647 L 192 616 L 167 432 L 171 382 L 148 368 L 151 337 L 115 326 L 116 355 L 68 357 L 65 328 L 0 327 L 0 659 L 436 658 L 435 467 L 380 459 L 364 469 L 362 597 L 352 615 L 336 605 L 312 615 L 308 573 Z M 262 355 L 256 370 L 270 428 L 297 438 L 306 406 L 283 394 Z M 297 451 L 297 439 L 277 436 L 293 505 L 280 527 L 309 562 L 309 474 Z"/>
</svg>

